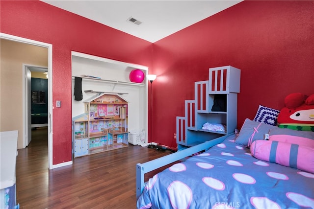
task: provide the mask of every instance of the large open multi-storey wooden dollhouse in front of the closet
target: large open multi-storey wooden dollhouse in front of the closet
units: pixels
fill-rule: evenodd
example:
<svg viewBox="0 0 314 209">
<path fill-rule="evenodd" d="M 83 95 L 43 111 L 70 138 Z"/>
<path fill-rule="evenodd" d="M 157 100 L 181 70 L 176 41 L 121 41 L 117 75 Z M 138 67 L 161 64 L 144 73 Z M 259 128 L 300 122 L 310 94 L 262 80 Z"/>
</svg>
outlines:
<svg viewBox="0 0 314 209">
<path fill-rule="evenodd" d="M 128 147 L 128 102 L 100 93 L 84 101 L 85 113 L 73 117 L 74 157 Z"/>
</svg>

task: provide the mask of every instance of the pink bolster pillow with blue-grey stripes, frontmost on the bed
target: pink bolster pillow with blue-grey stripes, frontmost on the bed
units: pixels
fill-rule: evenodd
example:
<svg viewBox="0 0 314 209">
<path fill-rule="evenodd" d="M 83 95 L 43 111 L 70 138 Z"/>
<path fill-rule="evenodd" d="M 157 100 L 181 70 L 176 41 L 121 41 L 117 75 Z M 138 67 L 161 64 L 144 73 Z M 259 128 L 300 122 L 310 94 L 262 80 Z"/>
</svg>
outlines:
<svg viewBox="0 0 314 209">
<path fill-rule="evenodd" d="M 251 154 L 260 160 L 314 173 L 314 148 L 281 141 L 256 140 Z"/>
</svg>

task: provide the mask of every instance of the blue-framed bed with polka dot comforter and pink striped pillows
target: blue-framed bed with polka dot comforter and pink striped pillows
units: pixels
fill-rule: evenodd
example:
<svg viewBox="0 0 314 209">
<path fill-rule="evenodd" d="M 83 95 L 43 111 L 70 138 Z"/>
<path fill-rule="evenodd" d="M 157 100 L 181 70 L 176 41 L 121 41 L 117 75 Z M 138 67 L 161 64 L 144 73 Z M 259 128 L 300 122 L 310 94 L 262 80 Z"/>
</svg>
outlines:
<svg viewBox="0 0 314 209">
<path fill-rule="evenodd" d="M 298 149 L 290 147 L 288 154 L 281 154 L 286 150 L 281 146 L 287 141 L 270 140 L 275 136 L 307 140 L 297 145 Z M 314 132 L 281 129 L 246 119 L 239 135 L 138 163 L 137 208 L 314 208 L 313 145 Z M 206 151 L 173 164 L 144 183 L 145 173 L 202 150 Z"/>
</svg>

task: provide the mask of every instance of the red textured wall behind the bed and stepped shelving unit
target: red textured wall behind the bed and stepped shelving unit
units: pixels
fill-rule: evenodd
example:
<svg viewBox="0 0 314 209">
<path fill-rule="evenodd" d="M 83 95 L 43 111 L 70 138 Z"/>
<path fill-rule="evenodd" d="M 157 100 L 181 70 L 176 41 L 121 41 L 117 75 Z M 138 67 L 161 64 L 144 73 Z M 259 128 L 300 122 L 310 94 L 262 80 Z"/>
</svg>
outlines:
<svg viewBox="0 0 314 209">
<path fill-rule="evenodd" d="M 314 93 L 314 1 L 243 1 L 154 44 L 154 141 L 174 145 L 176 116 L 209 68 L 241 69 L 238 128 L 259 105 Z"/>
</svg>

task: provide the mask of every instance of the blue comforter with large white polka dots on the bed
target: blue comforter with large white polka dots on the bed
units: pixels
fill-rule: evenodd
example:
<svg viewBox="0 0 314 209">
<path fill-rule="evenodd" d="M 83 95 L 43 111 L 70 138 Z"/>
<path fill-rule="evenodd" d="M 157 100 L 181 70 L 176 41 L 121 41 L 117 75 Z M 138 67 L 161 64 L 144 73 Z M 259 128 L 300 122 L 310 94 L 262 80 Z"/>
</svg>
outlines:
<svg viewBox="0 0 314 209">
<path fill-rule="evenodd" d="M 314 208 L 313 173 L 260 161 L 234 139 L 156 174 L 137 208 Z"/>
</svg>

